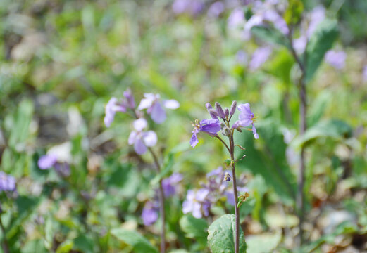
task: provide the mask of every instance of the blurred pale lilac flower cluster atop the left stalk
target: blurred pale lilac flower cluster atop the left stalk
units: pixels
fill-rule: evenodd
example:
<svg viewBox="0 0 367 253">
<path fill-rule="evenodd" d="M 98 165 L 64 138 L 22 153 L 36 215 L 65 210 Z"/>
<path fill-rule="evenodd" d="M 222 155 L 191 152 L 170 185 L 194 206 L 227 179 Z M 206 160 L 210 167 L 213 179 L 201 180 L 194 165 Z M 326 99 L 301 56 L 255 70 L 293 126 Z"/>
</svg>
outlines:
<svg viewBox="0 0 367 253">
<path fill-rule="evenodd" d="M 132 112 L 132 116 L 136 120 L 132 123 L 133 129 L 130 133 L 128 143 L 134 145 L 135 152 L 138 155 L 142 155 L 147 152 L 147 148 L 153 147 L 157 143 L 156 133 L 152 130 L 144 131 L 147 128 L 147 120 L 144 119 L 142 110 L 147 111 L 147 115 L 150 115 L 151 119 L 157 124 L 161 124 L 166 120 L 167 109 L 177 109 L 180 107 L 178 101 L 161 100 L 159 94 L 144 93 L 144 98 L 140 101 L 136 108 L 135 98 L 132 96 L 130 89 L 127 89 L 123 93 L 124 98 L 118 100 L 117 98 L 111 98 L 105 108 L 106 115 L 104 117 L 104 124 L 111 126 L 116 112 Z"/>
</svg>

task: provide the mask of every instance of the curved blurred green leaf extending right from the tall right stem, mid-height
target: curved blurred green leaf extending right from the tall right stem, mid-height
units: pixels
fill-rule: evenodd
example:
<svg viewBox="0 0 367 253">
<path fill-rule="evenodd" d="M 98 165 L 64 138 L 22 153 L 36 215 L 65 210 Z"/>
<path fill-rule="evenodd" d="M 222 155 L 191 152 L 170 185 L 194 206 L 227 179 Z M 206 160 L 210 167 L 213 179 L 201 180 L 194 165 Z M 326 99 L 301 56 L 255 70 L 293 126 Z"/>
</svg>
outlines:
<svg viewBox="0 0 367 253">
<path fill-rule="evenodd" d="M 292 145 L 299 148 L 303 145 L 308 145 L 316 138 L 330 137 L 343 138 L 352 134 L 352 128 L 346 122 L 338 119 L 330 119 L 318 122 L 306 131 L 304 136 L 299 136 L 294 139 Z"/>
</svg>

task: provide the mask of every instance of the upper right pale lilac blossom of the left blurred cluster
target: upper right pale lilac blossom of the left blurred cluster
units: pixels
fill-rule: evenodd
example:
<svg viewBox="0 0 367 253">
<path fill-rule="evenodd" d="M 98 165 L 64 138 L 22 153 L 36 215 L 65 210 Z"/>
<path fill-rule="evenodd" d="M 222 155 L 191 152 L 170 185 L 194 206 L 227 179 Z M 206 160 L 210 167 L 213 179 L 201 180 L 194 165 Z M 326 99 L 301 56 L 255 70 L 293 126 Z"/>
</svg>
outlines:
<svg viewBox="0 0 367 253">
<path fill-rule="evenodd" d="M 166 120 L 166 111 L 163 107 L 168 109 L 177 109 L 180 107 L 180 103 L 174 99 L 163 100 L 163 106 L 161 103 L 161 96 L 159 94 L 144 93 L 144 97 L 137 107 L 138 110 L 147 109 L 147 113 L 150 114 L 151 119 L 154 122 L 161 124 Z"/>
</svg>

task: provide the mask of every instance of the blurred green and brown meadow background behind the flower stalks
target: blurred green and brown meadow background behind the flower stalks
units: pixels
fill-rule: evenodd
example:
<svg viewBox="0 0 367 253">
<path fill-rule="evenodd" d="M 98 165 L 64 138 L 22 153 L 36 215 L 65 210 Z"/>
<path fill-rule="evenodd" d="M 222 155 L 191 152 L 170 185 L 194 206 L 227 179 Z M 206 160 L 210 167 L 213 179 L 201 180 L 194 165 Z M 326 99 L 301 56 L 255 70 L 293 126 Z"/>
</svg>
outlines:
<svg viewBox="0 0 367 253">
<path fill-rule="evenodd" d="M 251 2 L 1 0 L 1 171 L 16 190 L 1 188 L 0 250 L 156 252 L 159 222 L 147 226 L 141 216 L 155 195 L 153 160 L 127 144 L 128 115 L 104 125 L 108 100 L 130 87 L 137 103 L 143 93 L 180 102 L 164 124 L 149 122 L 166 176 L 182 175 L 166 200 L 168 252 L 209 252 L 208 225 L 234 213 L 225 196 L 209 216 L 182 213 L 187 190 L 228 158 L 205 134 L 192 150 L 190 122 L 209 118 L 205 103 L 232 100 L 259 116 L 259 140 L 236 136 L 246 148 L 238 157 L 247 155 L 237 174 L 250 195 L 240 209 L 248 252 L 295 252 L 301 146 L 306 241 L 297 250 L 366 252 L 367 1 L 299 1 L 308 22 L 316 11 L 337 19 L 332 50 L 342 52 L 325 58 L 307 84 L 303 138 L 297 65 L 287 49 L 246 30 Z M 283 15 L 292 1 L 268 2 Z M 63 168 L 39 168 L 50 153 Z M 111 233 L 116 228 L 134 231 L 138 242 Z"/>
</svg>

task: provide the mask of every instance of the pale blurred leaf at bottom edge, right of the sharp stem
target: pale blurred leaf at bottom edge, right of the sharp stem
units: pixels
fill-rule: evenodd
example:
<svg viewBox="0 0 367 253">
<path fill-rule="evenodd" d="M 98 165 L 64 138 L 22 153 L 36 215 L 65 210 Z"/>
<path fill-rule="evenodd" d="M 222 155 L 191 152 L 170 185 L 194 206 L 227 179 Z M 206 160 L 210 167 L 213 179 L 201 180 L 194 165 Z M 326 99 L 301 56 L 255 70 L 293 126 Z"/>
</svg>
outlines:
<svg viewBox="0 0 367 253">
<path fill-rule="evenodd" d="M 268 253 L 278 246 L 282 239 L 282 233 L 263 233 L 260 235 L 249 235 L 246 243 L 251 253 Z"/>
</svg>

